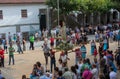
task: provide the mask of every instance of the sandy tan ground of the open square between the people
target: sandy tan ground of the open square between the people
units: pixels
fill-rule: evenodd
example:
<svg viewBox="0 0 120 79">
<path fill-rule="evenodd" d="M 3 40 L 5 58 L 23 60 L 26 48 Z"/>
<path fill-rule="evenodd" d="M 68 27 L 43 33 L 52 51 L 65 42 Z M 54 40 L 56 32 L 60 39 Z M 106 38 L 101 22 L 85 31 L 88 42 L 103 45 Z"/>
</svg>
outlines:
<svg viewBox="0 0 120 79">
<path fill-rule="evenodd" d="M 43 65 L 45 65 L 43 51 L 40 47 L 42 43 L 36 44 L 36 49 L 28 50 L 24 52 L 24 54 L 15 54 L 15 65 L 8 65 L 8 55 L 5 55 L 5 68 L 1 68 L 2 74 L 6 77 L 6 79 L 21 79 L 23 74 L 29 77 L 32 72 L 33 64 L 37 61 L 40 61 Z M 98 44 L 97 44 L 98 45 Z M 37 47 L 38 46 L 38 47 Z M 87 44 L 87 57 L 91 60 L 93 56 L 90 55 L 90 45 Z M 110 49 L 115 50 L 117 48 L 117 43 L 110 43 Z M 56 60 L 58 60 L 60 53 L 56 53 Z M 75 61 L 74 53 L 69 53 L 68 57 L 70 61 L 68 61 L 68 65 L 72 66 Z M 49 63 L 50 64 L 50 63 Z M 58 66 L 58 63 L 57 63 Z M 50 67 L 48 66 L 48 69 Z M 118 73 L 118 79 L 120 78 L 120 74 Z"/>
</svg>

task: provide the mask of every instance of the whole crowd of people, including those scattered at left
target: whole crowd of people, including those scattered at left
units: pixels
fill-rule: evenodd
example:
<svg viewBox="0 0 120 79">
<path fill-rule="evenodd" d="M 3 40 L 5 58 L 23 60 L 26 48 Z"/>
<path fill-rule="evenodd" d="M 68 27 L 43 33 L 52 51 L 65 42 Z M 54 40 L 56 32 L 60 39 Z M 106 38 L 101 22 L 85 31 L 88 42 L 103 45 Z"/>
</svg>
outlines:
<svg viewBox="0 0 120 79">
<path fill-rule="evenodd" d="M 66 28 L 66 42 L 77 48 L 71 49 L 72 53 L 75 53 L 75 61 L 70 60 L 68 57 L 69 52 L 62 50 L 58 60 L 59 65 L 56 66 L 55 53 L 57 52 L 54 47 L 58 46 L 63 39 L 61 38 L 62 30 L 60 27 L 55 28 L 56 31 L 51 33 L 50 37 L 50 47 L 48 42 L 48 34 L 43 30 L 42 38 L 44 38 L 43 54 L 45 57 L 45 66 L 39 61 L 33 65 L 32 73 L 30 74 L 30 79 L 117 79 L 117 71 L 120 70 L 120 49 L 111 50 L 109 49 L 110 42 L 118 41 L 120 44 L 120 29 L 113 27 L 108 24 L 105 25 L 102 30 L 101 27 L 96 27 L 95 40 L 88 41 L 87 32 L 78 27 L 75 30 L 71 28 Z M 91 31 L 92 29 L 89 29 Z M 19 36 L 16 38 L 16 44 L 18 47 L 18 52 L 23 53 L 26 50 L 25 39 L 22 40 L 23 49 L 21 47 L 21 41 Z M 34 35 L 29 38 L 30 49 L 34 50 Z M 56 41 L 56 43 L 55 43 Z M 96 45 L 99 43 L 99 46 Z M 3 42 L 3 44 L 5 41 Z M 91 60 L 87 58 L 87 47 L 85 44 L 90 43 L 91 51 L 90 54 L 94 56 Z M 56 44 L 56 45 L 55 45 Z M 11 64 L 11 59 L 13 60 L 13 65 L 15 64 L 13 43 L 11 43 L 11 38 L 9 38 L 9 48 L 4 44 L 4 49 L 0 47 L 0 62 L 1 66 L 4 67 L 4 51 L 9 53 L 9 65 Z M 7 51 L 8 49 L 8 51 Z M 50 57 L 50 69 L 48 66 L 48 57 Z M 68 65 L 68 60 L 75 62 L 71 67 Z M 115 62 L 115 63 L 114 63 Z M 117 64 L 117 66 L 115 65 Z M 54 67 L 54 68 L 53 68 Z M 25 75 L 22 79 L 27 79 Z"/>
</svg>

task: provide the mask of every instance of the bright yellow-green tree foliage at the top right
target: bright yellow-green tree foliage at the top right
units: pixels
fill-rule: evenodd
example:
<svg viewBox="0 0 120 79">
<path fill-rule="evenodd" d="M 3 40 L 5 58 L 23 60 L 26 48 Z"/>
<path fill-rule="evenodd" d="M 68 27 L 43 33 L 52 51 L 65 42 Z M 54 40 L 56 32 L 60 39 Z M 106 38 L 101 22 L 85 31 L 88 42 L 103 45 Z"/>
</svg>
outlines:
<svg viewBox="0 0 120 79">
<path fill-rule="evenodd" d="M 105 12 L 111 8 L 110 0 L 78 0 L 82 12 Z"/>
</svg>

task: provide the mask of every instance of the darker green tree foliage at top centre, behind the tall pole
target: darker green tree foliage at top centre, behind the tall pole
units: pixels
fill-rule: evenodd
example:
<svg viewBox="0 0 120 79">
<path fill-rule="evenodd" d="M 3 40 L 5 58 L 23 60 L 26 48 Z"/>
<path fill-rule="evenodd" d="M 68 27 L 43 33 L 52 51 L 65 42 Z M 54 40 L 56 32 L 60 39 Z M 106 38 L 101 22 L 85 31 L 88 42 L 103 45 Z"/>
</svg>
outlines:
<svg viewBox="0 0 120 79">
<path fill-rule="evenodd" d="M 58 0 L 47 0 L 47 4 L 53 9 L 58 9 Z M 59 11 L 61 14 L 69 14 L 69 12 L 78 10 L 77 0 L 59 0 Z"/>
</svg>

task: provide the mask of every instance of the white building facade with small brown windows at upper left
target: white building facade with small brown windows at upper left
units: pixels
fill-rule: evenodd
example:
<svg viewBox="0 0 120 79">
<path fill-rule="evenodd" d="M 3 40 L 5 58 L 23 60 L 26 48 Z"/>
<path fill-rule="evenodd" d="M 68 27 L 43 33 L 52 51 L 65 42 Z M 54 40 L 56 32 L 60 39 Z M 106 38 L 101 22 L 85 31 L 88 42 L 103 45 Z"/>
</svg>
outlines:
<svg viewBox="0 0 120 79">
<path fill-rule="evenodd" d="M 8 39 L 8 32 L 21 33 L 23 36 L 30 32 L 40 31 L 40 11 L 46 11 L 46 27 L 49 27 L 48 6 L 45 4 L 0 4 L 0 37 Z"/>
</svg>

